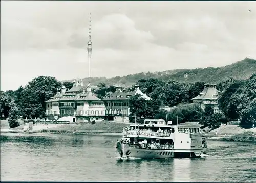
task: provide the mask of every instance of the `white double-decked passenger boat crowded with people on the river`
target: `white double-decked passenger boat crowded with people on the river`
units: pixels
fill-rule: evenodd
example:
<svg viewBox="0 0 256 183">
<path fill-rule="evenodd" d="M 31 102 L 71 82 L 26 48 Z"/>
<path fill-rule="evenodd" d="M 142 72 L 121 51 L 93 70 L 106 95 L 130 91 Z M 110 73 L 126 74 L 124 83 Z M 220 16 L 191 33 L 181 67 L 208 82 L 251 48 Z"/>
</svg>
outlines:
<svg viewBox="0 0 256 183">
<path fill-rule="evenodd" d="M 117 141 L 116 151 L 122 158 L 196 158 L 207 149 L 200 125 L 172 125 L 163 119 L 131 124 Z"/>
</svg>

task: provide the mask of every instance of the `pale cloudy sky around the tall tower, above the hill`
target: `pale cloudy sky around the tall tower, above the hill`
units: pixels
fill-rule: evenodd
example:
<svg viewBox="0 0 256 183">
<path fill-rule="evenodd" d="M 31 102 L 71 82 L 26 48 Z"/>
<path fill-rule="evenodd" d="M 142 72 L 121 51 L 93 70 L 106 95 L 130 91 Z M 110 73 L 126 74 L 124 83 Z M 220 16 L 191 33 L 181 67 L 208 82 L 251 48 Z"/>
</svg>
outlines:
<svg viewBox="0 0 256 183">
<path fill-rule="evenodd" d="M 251 9 L 251 11 L 249 11 Z M 256 59 L 256 2 L 1 1 L 1 90 Z"/>
</svg>

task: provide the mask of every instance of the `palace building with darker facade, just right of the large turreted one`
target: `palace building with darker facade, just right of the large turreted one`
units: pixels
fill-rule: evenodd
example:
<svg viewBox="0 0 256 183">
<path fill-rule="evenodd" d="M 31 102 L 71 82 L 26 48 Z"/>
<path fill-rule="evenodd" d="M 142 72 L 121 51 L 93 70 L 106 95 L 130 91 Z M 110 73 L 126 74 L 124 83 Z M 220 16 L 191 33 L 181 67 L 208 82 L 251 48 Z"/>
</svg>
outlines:
<svg viewBox="0 0 256 183">
<path fill-rule="evenodd" d="M 150 100 L 146 94 L 142 93 L 139 89 L 139 85 L 135 85 L 135 90 L 129 91 L 121 90 L 120 86 L 117 86 L 116 91 L 107 98 L 104 98 L 106 105 L 106 116 L 116 116 L 121 114 L 122 116 L 129 116 L 129 97 L 141 94 L 146 100 Z"/>
</svg>

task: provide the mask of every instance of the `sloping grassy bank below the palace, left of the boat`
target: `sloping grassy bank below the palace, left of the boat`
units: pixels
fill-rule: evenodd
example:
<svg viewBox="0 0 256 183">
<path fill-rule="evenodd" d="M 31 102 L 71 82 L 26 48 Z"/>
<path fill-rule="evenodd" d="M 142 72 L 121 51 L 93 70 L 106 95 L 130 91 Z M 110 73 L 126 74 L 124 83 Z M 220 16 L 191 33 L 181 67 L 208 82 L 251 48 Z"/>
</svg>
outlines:
<svg viewBox="0 0 256 183">
<path fill-rule="evenodd" d="M 85 124 L 69 124 L 54 128 L 45 129 L 46 133 L 76 133 L 76 134 L 103 134 L 103 133 L 121 133 L 123 127 L 129 124 L 117 123 L 113 121 L 101 121 Z"/>
</svg>

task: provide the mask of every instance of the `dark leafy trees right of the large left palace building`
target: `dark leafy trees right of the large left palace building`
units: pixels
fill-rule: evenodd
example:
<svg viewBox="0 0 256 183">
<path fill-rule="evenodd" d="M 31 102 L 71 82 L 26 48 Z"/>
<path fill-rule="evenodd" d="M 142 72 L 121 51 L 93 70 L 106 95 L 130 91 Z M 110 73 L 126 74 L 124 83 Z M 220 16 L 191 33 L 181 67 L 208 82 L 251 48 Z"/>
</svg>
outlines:
<svg viewBox="0 0 256 183">
<path fill-rule="evenodd" d="M 141 79 L 137 81 L 140 90 L 146 93 L 152 100 L 144 100 L 141 96 L 130 97 L 129 107 L 130 121 L 135 120 L 132 116 L 139 117 L 138 122 L 148 119 L 166 119 L 177 124 L 186 121 L 197 121 L 210 128 L 218 128 L 221 123 L 229 120 L 240 120 L 242 126 L 251 126 L 256 123 L 256 81 L 253 74 L 249 79 L 238 80 L 230 77 L 217 84 L 219 91 L 218 106 L 220 112 L 214 113 L 210 106 L 205 110 L 193 103 L 204 88 L 204 82 L 185 83 L 174 80 L 164 81 L 156 78 Z M 129 88 L 126 88 L 126 90 Z M 115 87 L 107 87 L 99 84 L 95 93 L 99 98 L 109 96 L 115 92 Z M 162 106 L 176 106 L 170 112 L 161 109 Z"/>
</svg>

